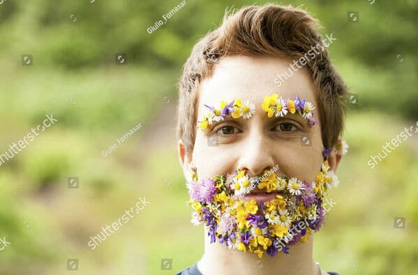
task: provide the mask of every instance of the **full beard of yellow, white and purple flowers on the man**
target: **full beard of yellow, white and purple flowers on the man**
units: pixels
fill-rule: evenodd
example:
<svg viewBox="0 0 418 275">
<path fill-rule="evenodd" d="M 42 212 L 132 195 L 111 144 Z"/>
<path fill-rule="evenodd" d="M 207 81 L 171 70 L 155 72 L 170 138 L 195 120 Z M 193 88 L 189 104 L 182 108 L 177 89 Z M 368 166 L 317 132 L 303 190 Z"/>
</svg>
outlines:
<svg viewBox="0 0 418 275">
<path fill-rule="evenodd" d="M 324 192 L 336 187 L 338 178 L 329 171 L 327 159 L 311 183 L 286 175 L 281 178 L 274 172 L 249 178 L 245 170 L 237 168 L 232 175 L 198 180 L 196 168 L 191 168 L 186 185 L 194 210 L 192 223 L 204 223 L 211 243 L 218 239 L 229 249 L 255 253 L 259 258 L 264 252 L 271 257 L 279 251 L 288 254 L 290 246 L 308 242 L 309 235 L 324 222 Z M 276 196 L 267 202 L 242 201 L 255 189 Z"/>
</svg>

